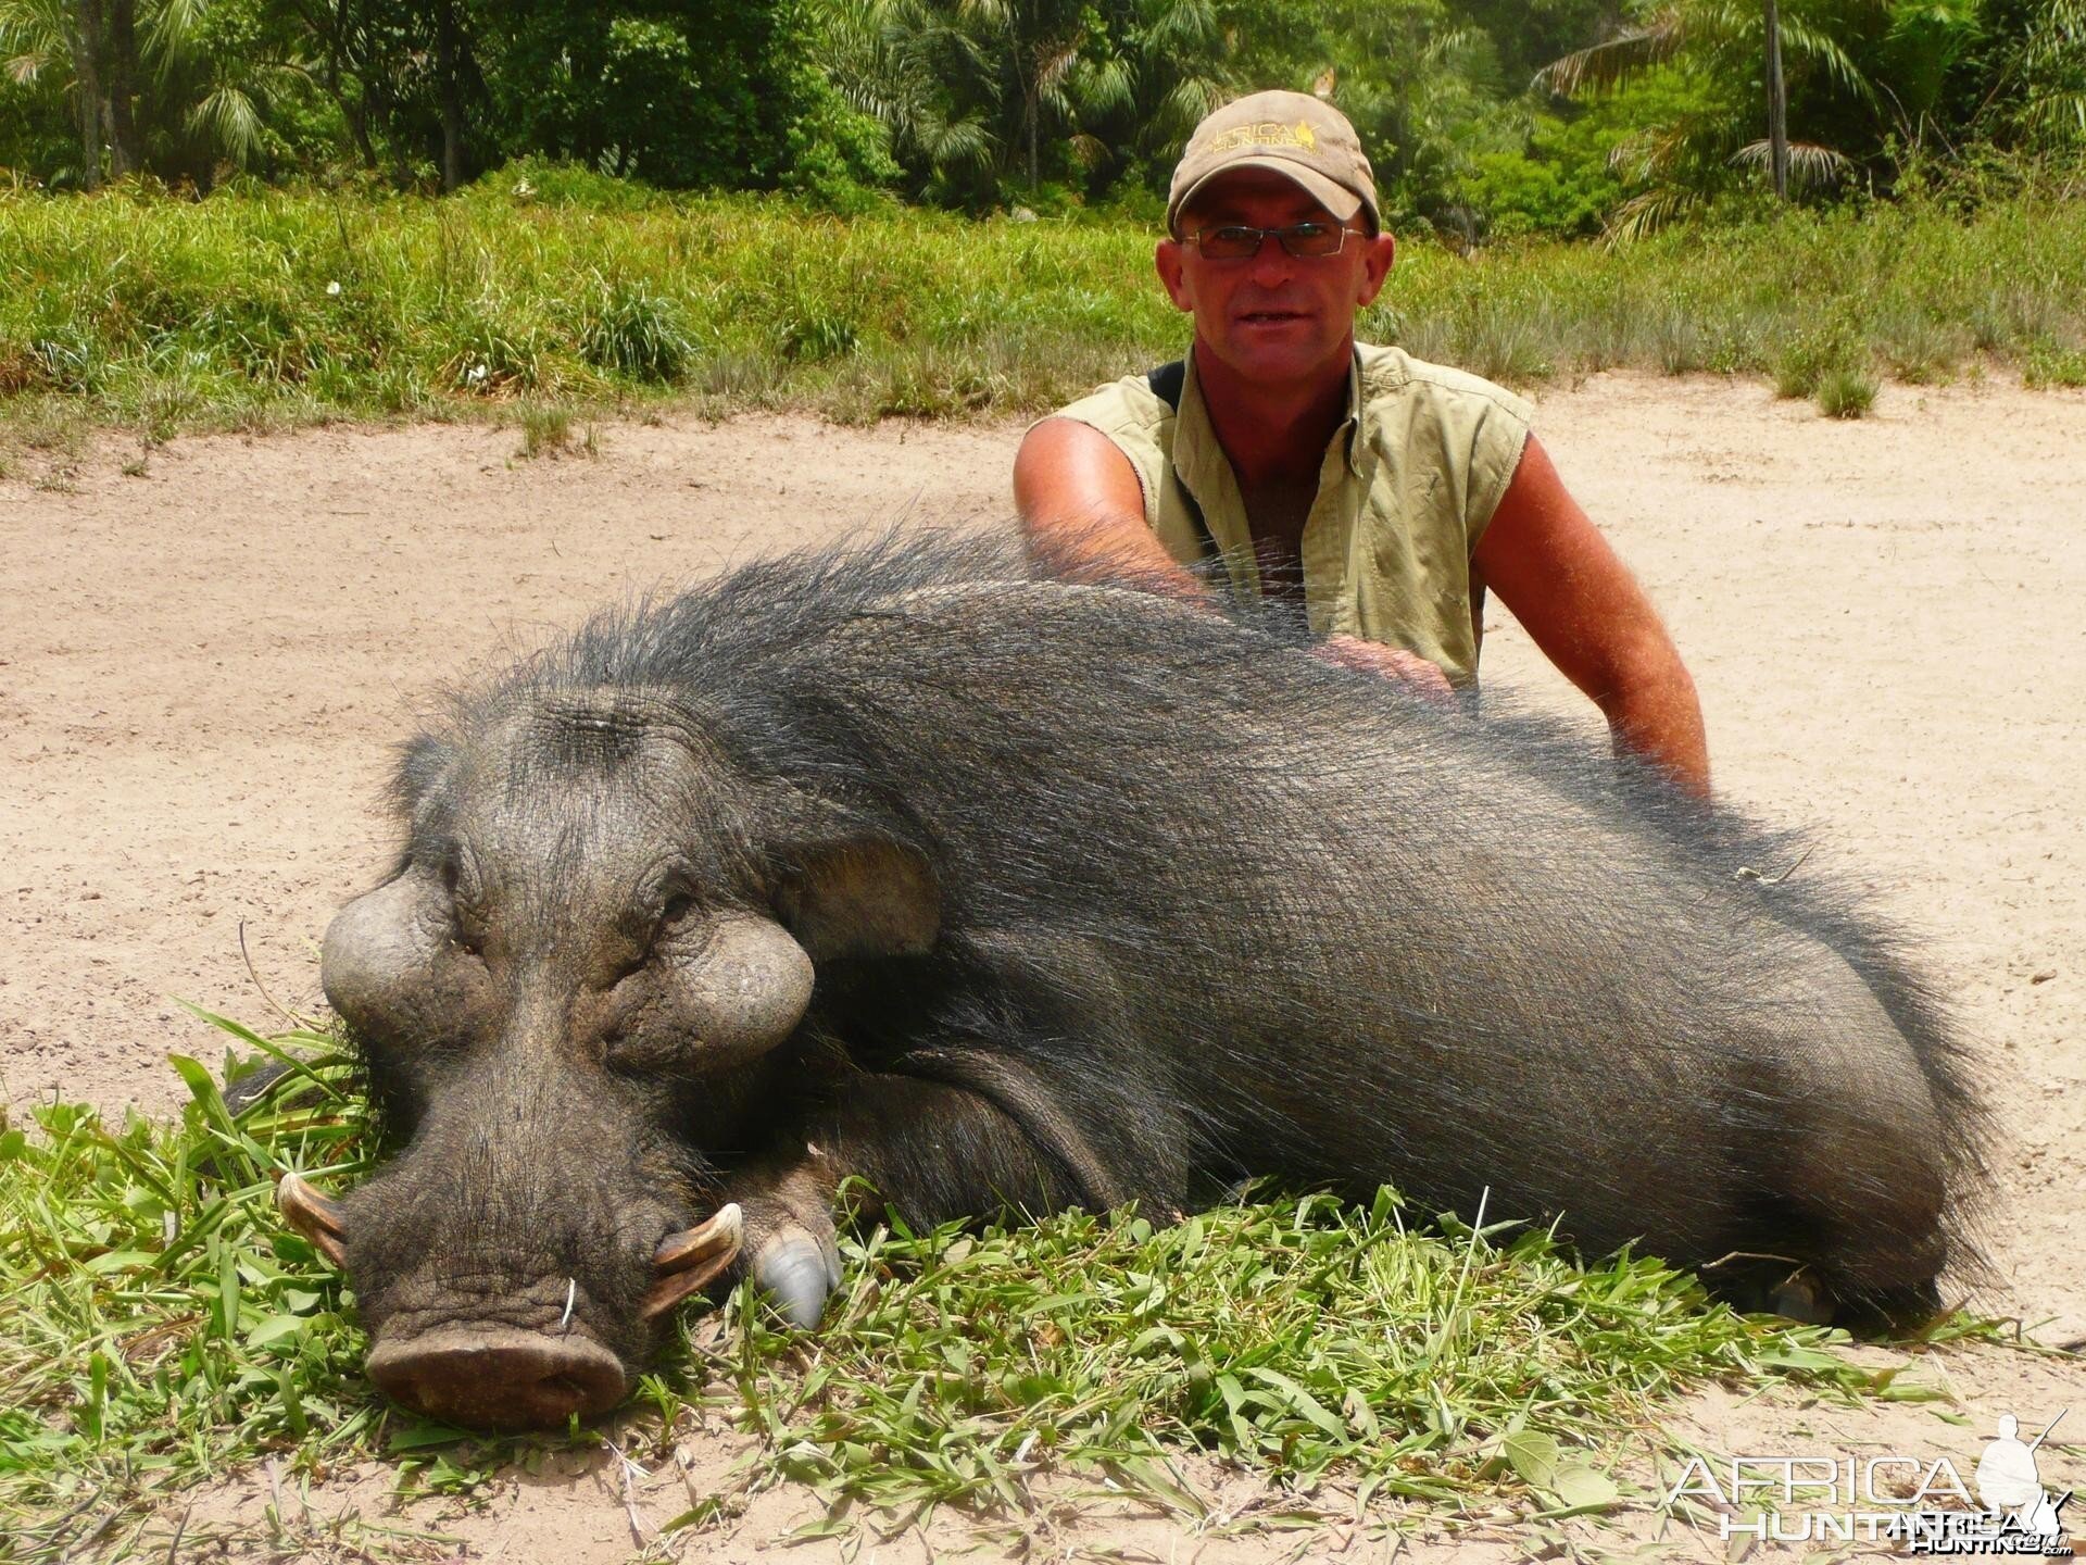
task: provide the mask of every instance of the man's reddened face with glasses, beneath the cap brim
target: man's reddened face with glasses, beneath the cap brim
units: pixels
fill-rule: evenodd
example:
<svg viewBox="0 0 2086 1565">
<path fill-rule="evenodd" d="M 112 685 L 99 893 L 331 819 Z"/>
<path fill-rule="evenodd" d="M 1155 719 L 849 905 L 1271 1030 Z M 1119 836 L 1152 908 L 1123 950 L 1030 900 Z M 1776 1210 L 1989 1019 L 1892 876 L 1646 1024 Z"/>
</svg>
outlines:
<svg viewBox="0 0 2086 1565">
<path fill-rule="evenodd" d="M 1368 219 L 1356 213 L 1352 227 Z M 1302 186 L 1268 169 L 1214 179 L 1181 213 L 1181 232 L 1243 223 L 1333 223 Z M 1337 223 L 1333 223 L 1337 227 Z M 1212 261 L 1199 246 L 1162 240 L 1154 257 L 1174 305 L 1195 315 L 1195 338 L 1216 359 L 1262 386 L 1308 382 L 1343 363 L 1354 313 L 1391 271 L 1387 234 L 1350 234 L 1339 255 L 1293 257 L 1275 240 L 1243 261 Z"/>
</svg>

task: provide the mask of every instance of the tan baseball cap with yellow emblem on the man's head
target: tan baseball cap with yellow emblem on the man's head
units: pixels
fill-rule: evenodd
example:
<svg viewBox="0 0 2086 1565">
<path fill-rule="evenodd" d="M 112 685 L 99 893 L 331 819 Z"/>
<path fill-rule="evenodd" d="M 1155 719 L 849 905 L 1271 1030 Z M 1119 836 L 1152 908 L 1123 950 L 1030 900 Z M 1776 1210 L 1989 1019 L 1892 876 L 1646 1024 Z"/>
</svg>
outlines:
<svg viewBox="0 0 2086 1565">
<path fill-rule="evenodd" d="M 1233 169 L 1270 169 L 1293 179 L 1341 223 L 1368 211 L 1383 227 L 1377 177 L 1348 117 L 1306 92 L 1254 92 L 1212 111 L 1187 138 L 1166 196 L 1166 232 L 1210 179 Z"/>
</svg>

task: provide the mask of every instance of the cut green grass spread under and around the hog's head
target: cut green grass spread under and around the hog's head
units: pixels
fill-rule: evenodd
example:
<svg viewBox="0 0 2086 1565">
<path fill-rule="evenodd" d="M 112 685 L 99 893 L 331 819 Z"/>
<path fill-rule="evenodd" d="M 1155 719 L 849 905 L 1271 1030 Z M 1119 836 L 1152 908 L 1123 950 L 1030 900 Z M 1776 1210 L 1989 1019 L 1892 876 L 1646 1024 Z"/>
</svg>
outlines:
<svg viewBox="0 0 2086 1565">
<path fill-rule="evenodd" d="M 599 1448 L 578 1429 L 471 1440 L 375 1400 L 350 1296 L 271 1204 L 284 1169 L 336 1189 L 367 1173 L 353 1056 L 217 1025 L 305 1064 L 238 1114 L 175 1060 L 177 1125 L 52 1104 L 0 1133 L 0 1561 L 121 1552 L 169 1496 L 265 1454 L 290 1484 L 388 1456 L 401 1486 L 453 1490 L 544 1444 Z M 1037 1473 L 1195 1511 L 1179 1459 L 1212 1452 L 1300 1492 L 1335 1484 L 1350 1507 L 1537 1519 L 1615 1504 L 1617 1436 L 1690 1383 L 1921 1394 L 1848 1365 L 1836 1333 L 1704 1306 L 1658 1262 L 1581 1269 L 1542 1233 L 1412 1233 L 1389 1194 L 1170 1227 L 878 1229 L 847 1244 L 816 1335 L 776 1329 L 749 1290 L 690 1310 L 622 1440 L 663 1454 L 703 1402 L 757 1436 L 747 1484 L 899 1513 L 1026 1509 Z"/>
</svg>

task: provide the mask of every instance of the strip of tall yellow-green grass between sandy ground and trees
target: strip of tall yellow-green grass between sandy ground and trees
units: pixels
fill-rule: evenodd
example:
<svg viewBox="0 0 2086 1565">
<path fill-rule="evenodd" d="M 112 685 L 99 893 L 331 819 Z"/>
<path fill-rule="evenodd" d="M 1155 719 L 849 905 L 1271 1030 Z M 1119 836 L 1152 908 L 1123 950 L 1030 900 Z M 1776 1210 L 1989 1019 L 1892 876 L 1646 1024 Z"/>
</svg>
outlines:
<svg viewBox="0 0 2086 1565">
<path fill-rule="evenodd" d="M 1135 223 L 547 204 L 519 177 L 444 200 L 0 192 L 0 428 L 165 438 L 661 399 L 853 422 L 1037 413 L 1185 344 Z M 2076 384 L 2086 202 L 1788 213 L 1621 250 L 1408 242 L 1362 317 L 1371 340 L 1521 384 L 1612 365 L 1784 384 L 1821 332 L 1907 380 L 1984 357 Z"/>
</svg>

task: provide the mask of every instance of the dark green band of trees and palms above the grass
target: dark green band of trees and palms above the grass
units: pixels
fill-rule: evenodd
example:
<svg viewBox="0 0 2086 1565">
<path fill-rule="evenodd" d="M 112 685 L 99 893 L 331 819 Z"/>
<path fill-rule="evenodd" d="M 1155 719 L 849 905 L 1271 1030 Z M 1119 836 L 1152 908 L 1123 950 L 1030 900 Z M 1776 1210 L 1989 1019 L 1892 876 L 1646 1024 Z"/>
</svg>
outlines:
<svg viewBox="0 0 2086 1565">
<path fill-rule="evenodd" d="M 1779 0 L 1794 194 L 2086 150 L 2086 0 Z M 1149 217 L 1250 88 L 1400 227 L 1646 232 L 1763 186 L 1765 0 L 0 0 L 0 169 L 453 190 L 517 156 L 859 213 Z"/>
</svg>

